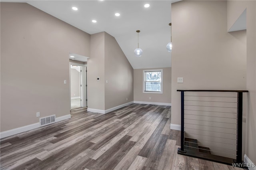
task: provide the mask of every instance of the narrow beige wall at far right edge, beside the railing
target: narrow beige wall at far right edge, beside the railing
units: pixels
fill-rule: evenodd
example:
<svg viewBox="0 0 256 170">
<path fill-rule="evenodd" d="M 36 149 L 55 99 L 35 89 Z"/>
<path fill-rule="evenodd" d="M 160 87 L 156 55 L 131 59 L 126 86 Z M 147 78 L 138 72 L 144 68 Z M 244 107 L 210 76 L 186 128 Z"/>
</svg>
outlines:
<svg viewBox="0 0 256 170">
<path fill-rule="evenodd" d="M 254 5 L 253 5 L 254 4 Z M 255 6 L 253 8 L 253 6 Z M 248 125 L 246 137 L 246 155 L 252 162 L 256 162 L 256 2 L 247 6 L 247 89 Z"/>
</svg>

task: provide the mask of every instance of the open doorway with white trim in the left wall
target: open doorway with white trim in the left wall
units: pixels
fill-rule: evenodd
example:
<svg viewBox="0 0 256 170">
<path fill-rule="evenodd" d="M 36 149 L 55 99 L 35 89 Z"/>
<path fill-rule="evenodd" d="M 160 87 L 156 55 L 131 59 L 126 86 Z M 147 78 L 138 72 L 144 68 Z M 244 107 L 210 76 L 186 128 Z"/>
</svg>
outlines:
<svg viewBox="0 0 256 170">
<path fill-rule="evenodd" d="M 87 107 L 86 66 L 70 62 L 70 109 Z"/>
</svg>

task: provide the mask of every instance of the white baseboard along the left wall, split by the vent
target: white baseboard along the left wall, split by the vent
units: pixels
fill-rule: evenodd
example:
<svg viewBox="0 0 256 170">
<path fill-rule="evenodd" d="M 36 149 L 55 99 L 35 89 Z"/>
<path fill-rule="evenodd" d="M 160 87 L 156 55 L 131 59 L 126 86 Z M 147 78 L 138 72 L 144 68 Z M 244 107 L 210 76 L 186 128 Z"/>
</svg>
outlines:
<svg viewBox="0 0 256 170">
<path fill-rule="evenodd" d="M 71 115 L 64 115 L 64 116 L 61 116 L 61 117 L 56 117 L 56 122 L 59 122 L 59 121 L 63 121 L 65 119 L 70 119 L 71 118 Z M 18 134 L 18 133 L 22 133 L 22 132 L 26 132 L 28 130 L 32 130 L 34 128 L 39 128 L 40 127 L 40 123 L 34 123 L 34 124 L 31 124 L 31 125 L 26 125 L 24 127 L 18 127 L 18 128 L 14 128 L 14 129 L 11 129 L 11 130 L 6 130 L 4 132 L 0 132 L 0 138 L 5 138 L 5 137 L 8 137 L 8 136 L 12 136 L 14 134 Z"/>
</svg>

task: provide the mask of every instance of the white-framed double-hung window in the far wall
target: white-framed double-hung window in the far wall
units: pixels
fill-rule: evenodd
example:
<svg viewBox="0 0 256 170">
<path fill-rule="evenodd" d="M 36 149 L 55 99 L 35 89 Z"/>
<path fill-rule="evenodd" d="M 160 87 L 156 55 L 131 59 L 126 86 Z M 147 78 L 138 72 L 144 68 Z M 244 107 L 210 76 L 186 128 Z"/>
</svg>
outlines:
<svg viewBox="0 0 256 170">
<path fill-rule="evenodd" d="M 163 70 L 143 70 L 143 93 L 163 93 Z"/>
</svg>

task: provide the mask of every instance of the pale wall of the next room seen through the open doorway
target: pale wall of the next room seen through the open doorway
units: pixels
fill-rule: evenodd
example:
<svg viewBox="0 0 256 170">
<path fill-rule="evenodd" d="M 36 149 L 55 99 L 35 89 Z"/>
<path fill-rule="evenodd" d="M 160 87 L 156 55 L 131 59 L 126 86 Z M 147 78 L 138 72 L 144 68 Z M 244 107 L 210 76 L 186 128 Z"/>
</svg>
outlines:
<svg viewBox="0 0 256 170">
<path fill-rule="evenodd" d="M 81 76 L 80 72 L 76 69 L 70 69 L 70 96 L 72 97 L 80 97 L 80 82 Z"/>
</svg>

